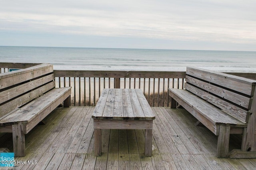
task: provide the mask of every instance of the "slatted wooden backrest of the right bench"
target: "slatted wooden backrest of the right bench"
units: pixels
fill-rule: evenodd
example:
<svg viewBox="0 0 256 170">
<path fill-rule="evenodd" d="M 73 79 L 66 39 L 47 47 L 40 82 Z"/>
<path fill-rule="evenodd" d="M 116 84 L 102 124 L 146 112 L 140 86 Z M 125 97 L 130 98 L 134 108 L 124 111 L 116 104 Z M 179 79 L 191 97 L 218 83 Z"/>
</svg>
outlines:
<svg viewBox="0 0 256 170">
<path fill-rule="evenodd" d="M 219 107 L 232 117 L 248 122 L 256 81 L 187 67 L 186 90 Z"/>
</svg>

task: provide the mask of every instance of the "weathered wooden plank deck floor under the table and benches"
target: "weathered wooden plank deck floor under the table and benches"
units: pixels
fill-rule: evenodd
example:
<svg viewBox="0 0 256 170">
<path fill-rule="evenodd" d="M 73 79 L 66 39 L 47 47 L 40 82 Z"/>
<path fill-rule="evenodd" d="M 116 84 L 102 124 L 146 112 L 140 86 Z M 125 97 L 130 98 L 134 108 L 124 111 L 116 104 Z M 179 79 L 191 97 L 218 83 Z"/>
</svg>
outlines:
<svg viewBox="0 0 256 170">
<path fill-rule="evenodd" d="M 102 131 L 102 156 L 94 156 L 94 107 L 57 108 L 26 137 L 26 156 L 14 169 L 256 169 L 256 159 L 216 158 L 217 137 L 185 109 L 152 107 L 152 156 L 144 156 L 143 130 Z M 0 134 L 0 146 L 12 151 L 12 134 Z M 230 150 L 241 136 L 230 136 Z"/>
</svg>

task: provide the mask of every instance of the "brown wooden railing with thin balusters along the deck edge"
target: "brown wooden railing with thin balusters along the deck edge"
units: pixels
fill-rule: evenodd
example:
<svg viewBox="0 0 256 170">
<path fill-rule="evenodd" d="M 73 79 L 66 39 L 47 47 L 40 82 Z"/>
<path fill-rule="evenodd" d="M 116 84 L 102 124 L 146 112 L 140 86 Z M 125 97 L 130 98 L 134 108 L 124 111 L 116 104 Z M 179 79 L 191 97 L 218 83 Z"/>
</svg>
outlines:
<svg viewBox="0 0 256 170">
<path fill-rule="evenodd" d="M 8 68 L 27 68 L 38 63 L 0 63 Z M 54 70 L 56 87 L 72 87 L 71 105 L 96 105 L 103 88 L 140 88 L 150 106 L 169 106 L 168 88 L 184 88 L 185 72 Z M 229 73 L 256 80 L 256 73 Z"/>
</svg>

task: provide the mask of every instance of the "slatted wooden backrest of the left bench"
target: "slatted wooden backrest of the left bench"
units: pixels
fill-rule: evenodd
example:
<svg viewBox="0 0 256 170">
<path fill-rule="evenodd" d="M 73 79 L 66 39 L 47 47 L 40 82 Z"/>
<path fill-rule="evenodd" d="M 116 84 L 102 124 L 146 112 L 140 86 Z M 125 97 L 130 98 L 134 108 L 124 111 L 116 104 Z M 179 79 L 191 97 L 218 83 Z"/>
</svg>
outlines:
<svg viewBox="0 0 256 170">
<path fill-rule="evenodd" d="M 0 117 L 55 87 L 52 64 L 0 74 Z"/>
</svg>

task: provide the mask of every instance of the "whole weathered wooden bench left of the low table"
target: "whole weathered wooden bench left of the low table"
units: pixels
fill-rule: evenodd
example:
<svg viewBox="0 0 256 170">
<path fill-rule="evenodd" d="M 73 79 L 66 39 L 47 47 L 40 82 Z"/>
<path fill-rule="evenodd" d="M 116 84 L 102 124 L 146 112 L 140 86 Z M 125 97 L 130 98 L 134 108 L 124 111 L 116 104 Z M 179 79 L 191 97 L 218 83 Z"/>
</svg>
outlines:
<svg viewBox="0 0 256 170">
<path fill-rule="evenodd" d="M 55 88 L 52 64 L 0 74 L 0 133 L 12 133 L 15 156 L 25 156 L 25 134 L 64 101 L 71 87 Z"/>
</svg>

